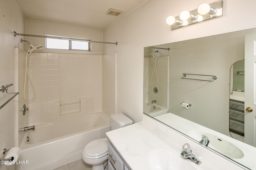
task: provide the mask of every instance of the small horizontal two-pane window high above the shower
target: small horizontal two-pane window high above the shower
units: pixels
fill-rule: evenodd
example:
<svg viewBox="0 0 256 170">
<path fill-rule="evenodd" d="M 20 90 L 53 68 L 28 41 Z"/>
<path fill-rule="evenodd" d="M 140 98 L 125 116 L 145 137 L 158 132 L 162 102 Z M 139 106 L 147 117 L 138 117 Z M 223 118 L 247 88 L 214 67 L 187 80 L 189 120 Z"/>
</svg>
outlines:
<svg viewBox="0 0 256 170">
<path fill-rule="evenodd" d="M 47 35 L 46 35 L 47 36 Z M 88 40 L 90 41 L 90 40 Z M 84 50 L 90 51 L 90 42 L 46 38 L 46 49 L 63 49 L 63 50 Z"/>
</svg>

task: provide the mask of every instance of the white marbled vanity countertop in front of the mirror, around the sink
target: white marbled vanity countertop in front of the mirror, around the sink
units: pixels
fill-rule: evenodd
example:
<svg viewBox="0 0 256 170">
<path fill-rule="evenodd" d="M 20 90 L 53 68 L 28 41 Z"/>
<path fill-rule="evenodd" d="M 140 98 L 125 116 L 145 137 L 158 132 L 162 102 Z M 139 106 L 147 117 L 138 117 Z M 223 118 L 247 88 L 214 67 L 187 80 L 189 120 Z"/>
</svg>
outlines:
<svg viewBox="0 0 256 170">
<path fill-rule="evenodd" d="M 150 170 L 147 156 L 155 149 L 170 151 L 175 156 L 177 166 L 174 169 L 177 170 L 187 169 L 184 166 L 192 170 L 226 170 L 227 167 L 232 170 L 243 169 L 146 115 L 143 115 L 142 122 L 107 132 L 106 135 L 132 170 Z M 185 143 L 189 143 L 202 164 L 196 165 L 180 156 Z"/>
</svg>

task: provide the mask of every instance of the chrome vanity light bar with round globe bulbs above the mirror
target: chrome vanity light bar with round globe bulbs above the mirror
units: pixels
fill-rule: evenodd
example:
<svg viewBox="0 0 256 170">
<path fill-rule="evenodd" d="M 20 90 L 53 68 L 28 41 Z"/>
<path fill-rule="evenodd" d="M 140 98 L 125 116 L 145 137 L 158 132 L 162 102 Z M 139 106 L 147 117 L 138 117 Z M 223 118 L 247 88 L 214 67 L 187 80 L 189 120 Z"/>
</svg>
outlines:
<svg viewBox="0 0 256 170">
<path fill-rule="evenodd" d="M 171 29 L 184 27 L 192 23 L 208 20 L 223 15 L 223 1 L 218 0 L 212 4 L 201 4 L 198 9 L 192 11 L 182 11 L 179 16 L 169 16 L 166 23 L 171 25 Z"/>
</svg>

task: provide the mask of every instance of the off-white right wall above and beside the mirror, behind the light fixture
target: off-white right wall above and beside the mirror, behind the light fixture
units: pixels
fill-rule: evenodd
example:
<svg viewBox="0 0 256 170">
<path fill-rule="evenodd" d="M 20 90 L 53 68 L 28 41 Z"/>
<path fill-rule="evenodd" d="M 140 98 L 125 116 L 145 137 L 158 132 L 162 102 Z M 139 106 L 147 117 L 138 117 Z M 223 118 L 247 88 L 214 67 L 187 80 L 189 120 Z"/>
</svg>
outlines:
<svg viewBox="0 0 256 170">
<path fill-rule="evenodd" d="M 118 46 L 104 45 L 104 54 L 118 53 L 118 111 L 142 120 L 143 47 L 256 27 L 255 0 L 223 1 L 223 16 L 170 30 L 168 16 L 215 0 L 149 0 L 104 29 L 104 41 L 118 41 Z"/>
</svg>

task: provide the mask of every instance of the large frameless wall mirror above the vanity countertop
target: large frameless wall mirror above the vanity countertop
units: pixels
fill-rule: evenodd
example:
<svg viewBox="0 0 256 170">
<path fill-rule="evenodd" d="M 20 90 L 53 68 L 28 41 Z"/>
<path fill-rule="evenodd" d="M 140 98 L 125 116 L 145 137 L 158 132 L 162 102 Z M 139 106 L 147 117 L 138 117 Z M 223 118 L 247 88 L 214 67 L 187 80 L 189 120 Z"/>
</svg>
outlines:
<svg viewBox="0 0 256 170">
<path fill-rule="evenodd" d="M 253 111 L 245 108 L 250 90 L 244 66 L 246 35 L 253 33 L 256 29 L 144 48 L 144 113 L 195 141 L 205 135 L 210 140 L 205 147 L 250 169 L 256 168 L 256 144 L 248 136 L 255 137 L 256 129 L 249 133 L 245 126 Z"/>
</svg>

